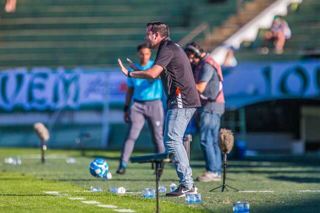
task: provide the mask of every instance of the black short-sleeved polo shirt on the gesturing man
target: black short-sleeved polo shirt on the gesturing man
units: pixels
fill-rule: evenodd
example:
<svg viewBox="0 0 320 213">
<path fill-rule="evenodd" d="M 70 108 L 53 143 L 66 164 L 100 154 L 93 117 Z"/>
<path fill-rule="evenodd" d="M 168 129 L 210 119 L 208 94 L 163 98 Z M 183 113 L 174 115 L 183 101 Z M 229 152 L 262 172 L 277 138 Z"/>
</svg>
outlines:
<svg viewBox="0 0 320 213">
<path fill-rule="evenodd" d="M 160 42 L 154 65 L 163 67 L 161 80 L 167 95 L 167 108 L 193 108 L 201 106 L 199 93 L 188 56 L 170 38 Z"/>
</svg>

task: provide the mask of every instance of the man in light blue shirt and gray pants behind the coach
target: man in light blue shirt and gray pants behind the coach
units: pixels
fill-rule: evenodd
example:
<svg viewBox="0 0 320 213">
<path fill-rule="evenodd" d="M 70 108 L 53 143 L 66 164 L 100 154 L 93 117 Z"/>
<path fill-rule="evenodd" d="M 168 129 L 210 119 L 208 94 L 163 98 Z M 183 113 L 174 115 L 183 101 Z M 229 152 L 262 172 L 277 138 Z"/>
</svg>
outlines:
<svg viewBox="0 0 320 213">
<path fill-rule="evenodd" d="M 153 60 L 150 60 L 151 49 L 147 44 L 137 47 L 137 55 L 140 63 L 135 64 L 141 70 L 151 68 Z M 130 70 L 132 71 L 132 69 Z M 155 152 L 165 152 L 163 145 L 163 105 L 162 105 L 162 82 L 161 79 L 138 79 L 128 78 L 128 89 L 124 107 L 124 120 L 130 124 L 130 129 L 122 148 L 118 174 L 126 172 L 127 163 L 132 153 L 134 143 L 140 131 L 148 121 L 155 144 Z M 133 98 L 133 104 L 129 111 L 129 104 Z"/>
</svg>

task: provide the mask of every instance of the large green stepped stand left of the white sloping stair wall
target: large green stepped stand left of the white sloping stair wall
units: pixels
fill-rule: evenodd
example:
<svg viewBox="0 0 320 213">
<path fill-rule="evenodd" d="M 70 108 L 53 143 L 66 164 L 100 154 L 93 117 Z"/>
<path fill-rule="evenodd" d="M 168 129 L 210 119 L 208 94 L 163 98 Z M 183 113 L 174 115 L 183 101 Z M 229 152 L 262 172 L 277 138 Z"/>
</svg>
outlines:
<svg viewBox="0 0 320 213">
<path fill-rule="evenodd" d="M 235 2 L 19 0 L 16 12 L 0 13 L 0 70 L 114 66 L 117 57 L 135 56 L 148 21 L 168 23 L 171 38 L 178 41 L 203 21 L 220 25 L 236 12 Z"/>
</svg>

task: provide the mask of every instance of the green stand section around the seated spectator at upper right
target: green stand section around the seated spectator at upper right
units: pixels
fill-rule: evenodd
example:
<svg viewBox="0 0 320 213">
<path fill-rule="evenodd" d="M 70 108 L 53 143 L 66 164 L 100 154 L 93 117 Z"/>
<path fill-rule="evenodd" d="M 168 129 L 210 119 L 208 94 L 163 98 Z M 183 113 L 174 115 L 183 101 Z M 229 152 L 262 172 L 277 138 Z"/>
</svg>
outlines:
<svg viewBox="0 0 320 213">
<path fill-rule="evenodd" d="M 267 29 L 260 29 L 253 42 L 243 42 L 241 48 L 236 51 L 237 60 L 298 60 L 319 57 L 320 46 L 320 18 L 317 15 L 320 2 L 317 0 L 303 0 L 300 4 L 291 4 L 289 13 L 283 18 L 288 22 L 292 36 L 286 40 L 284 52 L 275 54 L 258 54 Z M 307 33 L 306 33 L 307 32 Z M 272 43 L 269 43 L 272 48 Z"/>
</svg>

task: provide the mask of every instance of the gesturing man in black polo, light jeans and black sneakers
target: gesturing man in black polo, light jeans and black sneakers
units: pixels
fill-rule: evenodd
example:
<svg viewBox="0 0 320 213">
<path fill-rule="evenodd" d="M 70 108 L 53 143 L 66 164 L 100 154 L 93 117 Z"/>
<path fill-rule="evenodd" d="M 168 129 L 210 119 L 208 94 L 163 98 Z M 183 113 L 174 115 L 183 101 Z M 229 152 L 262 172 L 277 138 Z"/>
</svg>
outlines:
<svg viewBox="0 0 320 213">
<path fill-rule="evenodd" d="M 167 95 L 167 116 L 164 130 L 164 146 L 175 154 L 175 168 L 180 178 L 179 187 L 167 196 L 185 196 L 197 193 L 192 179 L 192 170 L 183 147 L 182 137 L 196 107 L 201 106 L 189 59 L 184 50 L 169 38 L 169 28 L 163 22 L 147 24 L 145 40 L 148 46 L 158 49 L 154 65 L 139 70 L 127 59 L 133 72 L 129 72 L 118 59 L 122 72 L 128 77 L 157 78 L 161 76 Z"/>
</svg>

